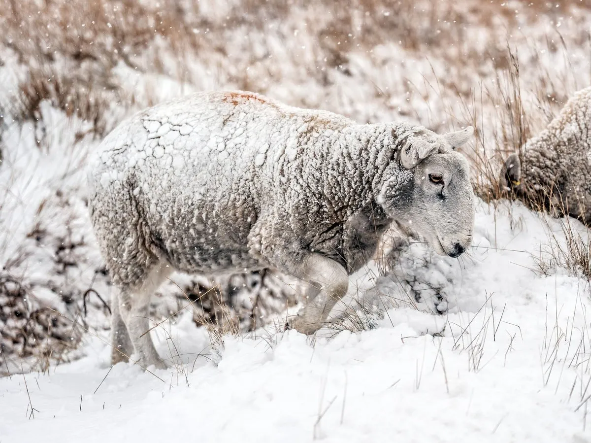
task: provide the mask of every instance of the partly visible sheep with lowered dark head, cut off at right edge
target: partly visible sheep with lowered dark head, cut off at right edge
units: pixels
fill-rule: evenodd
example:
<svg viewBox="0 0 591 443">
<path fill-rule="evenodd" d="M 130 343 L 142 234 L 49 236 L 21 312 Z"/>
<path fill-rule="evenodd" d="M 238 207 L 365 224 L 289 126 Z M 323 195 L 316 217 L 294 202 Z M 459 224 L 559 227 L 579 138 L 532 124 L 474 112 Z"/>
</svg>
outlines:
<svg viewBox="0 0 591 443">
<path fill-rule="evenodd" d="M 533 209 L 591 224 L 591 87 L 577 92 L 544 131 L 511 154 L 502 190 Z"/>
</svg>

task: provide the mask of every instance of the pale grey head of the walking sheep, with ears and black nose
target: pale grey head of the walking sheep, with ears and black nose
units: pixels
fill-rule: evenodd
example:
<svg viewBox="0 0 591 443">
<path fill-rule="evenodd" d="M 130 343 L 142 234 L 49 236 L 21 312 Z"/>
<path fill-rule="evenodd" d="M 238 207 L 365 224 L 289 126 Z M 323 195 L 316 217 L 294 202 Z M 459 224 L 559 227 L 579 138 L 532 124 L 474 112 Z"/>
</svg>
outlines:
<svg viewBox="0 0 591 443">
<path fill-rule="evenodd" d="M 392 177 L 380 192 L 388 216 L 423 235 L 437 253 L 450 257 L 460 256 L 472 242 L 475 208 L 469 167 L 455 151 L 472 133 L 472 127 L 446 135 L 416 132 L 400 153 L 400 165 L 410 178 L 401 188 L 400 179 Z M 404 206 L 398 205 L 400 201 L 405 201 Z"/>
</svg>

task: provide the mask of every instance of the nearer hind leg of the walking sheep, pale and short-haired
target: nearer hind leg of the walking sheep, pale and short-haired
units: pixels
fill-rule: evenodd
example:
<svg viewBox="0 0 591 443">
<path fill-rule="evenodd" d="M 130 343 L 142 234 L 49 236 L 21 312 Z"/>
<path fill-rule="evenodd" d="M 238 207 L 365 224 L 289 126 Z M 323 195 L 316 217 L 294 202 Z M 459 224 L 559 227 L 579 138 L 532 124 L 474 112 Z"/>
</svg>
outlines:
<svg viewBox="0 0 591 443">
<path fill-rule="evenodd" d="M 135 353 L 139 356 L 135 363 L 144 369 L 151 365 L 159 369 L 166 368 L 150 337 L 150 329 L 153 325 L 148 319 L 148 309 L 152 293 L 158 289 L 171 271 L 169 266 L 158 264 L 152 267 L 139 288 L 124 291 L 119 295 L 119 309 L 134 344 Z"/>
</svg>

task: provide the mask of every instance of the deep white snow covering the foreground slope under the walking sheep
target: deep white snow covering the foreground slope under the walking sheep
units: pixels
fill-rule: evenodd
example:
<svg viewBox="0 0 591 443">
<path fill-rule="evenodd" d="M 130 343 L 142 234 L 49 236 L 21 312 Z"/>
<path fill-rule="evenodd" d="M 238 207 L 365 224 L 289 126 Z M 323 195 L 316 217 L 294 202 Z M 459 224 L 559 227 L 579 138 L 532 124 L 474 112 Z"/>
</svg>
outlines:
<svg viewBox="0 0 591 443">
<path fill-rule="evenodd" d="M 152 331 L 171 368 L 145 373 L 110 367 L 108 335 L 87 335 L 80 360 L 0 379 L 1 441 L 589 442 L 589 282 L 536 271 L 563 222 L 479 202 L 469 256 L 411 244 L 397 273 L 440 287 L 445 315 L 425 298 L 362 332 L 220 339 L 186 313 Z M 351 299 L 371 299 L 376 266 L 352 277 Z"/>
</svg>

